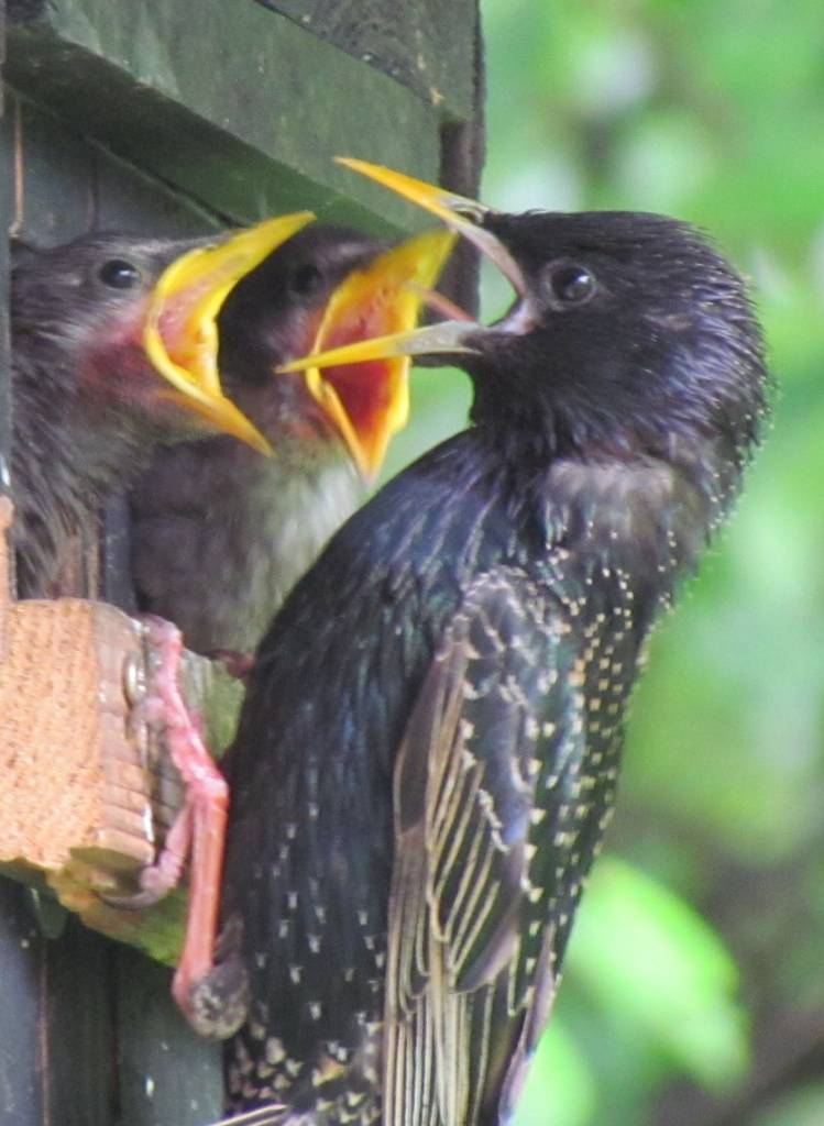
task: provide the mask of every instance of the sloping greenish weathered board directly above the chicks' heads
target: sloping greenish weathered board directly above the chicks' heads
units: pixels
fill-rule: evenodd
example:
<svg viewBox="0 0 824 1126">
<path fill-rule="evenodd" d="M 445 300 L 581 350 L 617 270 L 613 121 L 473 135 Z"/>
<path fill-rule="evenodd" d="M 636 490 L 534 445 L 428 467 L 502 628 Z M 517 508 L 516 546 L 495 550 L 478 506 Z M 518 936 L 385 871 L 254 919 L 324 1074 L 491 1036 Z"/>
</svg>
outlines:
<svg viewBox="0 0 824 1126">
<path fill-rule="evenodd" d="M 188 0 L 52 0 L 42 18 L 10 25 L 6 74 L 227 216 L 311 207 L 378 233 L 425 225 L 331 158 L 369 157 L 432 180 L 440 109 L 257 5 L 203 5 L 193 21 Z"/>
</svg>

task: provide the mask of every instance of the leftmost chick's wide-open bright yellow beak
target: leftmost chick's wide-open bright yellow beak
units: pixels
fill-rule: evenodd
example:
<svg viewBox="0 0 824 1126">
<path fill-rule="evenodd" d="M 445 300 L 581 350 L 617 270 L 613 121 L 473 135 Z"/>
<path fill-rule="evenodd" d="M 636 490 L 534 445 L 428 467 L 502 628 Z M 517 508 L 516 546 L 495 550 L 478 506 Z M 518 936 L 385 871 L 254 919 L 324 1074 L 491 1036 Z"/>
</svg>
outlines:
<svg viewBox="0 0 824 1126">
<path fill-rule="evenodd" d="M 269 444 L 221 390 L 215 318 L 233 286 L 313 218 L 283 215 L 197 247 L 166 268 L 149 300 L 143 347 L 175 388 L 169 397 L 265 454 Z"/>
</svg>

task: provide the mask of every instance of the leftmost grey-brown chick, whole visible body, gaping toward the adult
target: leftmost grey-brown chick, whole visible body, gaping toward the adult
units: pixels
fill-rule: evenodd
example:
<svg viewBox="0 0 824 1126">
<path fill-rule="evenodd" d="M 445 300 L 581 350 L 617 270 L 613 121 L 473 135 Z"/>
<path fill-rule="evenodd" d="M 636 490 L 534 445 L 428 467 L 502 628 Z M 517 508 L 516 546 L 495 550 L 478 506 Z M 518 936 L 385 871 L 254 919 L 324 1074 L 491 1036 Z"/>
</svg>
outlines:
<svg viewBox="0 0 824 1126">
<path fill-rule="evenodd" d="M 267 448 L 221 394 L 214 315 L 234 282 L 311 217 L 224 241 L 91 234 L 18 257 L 10 476 L 21 596 L 59 592 L 69 537 L 159 441 L 222 429 Z"/>
</svg>

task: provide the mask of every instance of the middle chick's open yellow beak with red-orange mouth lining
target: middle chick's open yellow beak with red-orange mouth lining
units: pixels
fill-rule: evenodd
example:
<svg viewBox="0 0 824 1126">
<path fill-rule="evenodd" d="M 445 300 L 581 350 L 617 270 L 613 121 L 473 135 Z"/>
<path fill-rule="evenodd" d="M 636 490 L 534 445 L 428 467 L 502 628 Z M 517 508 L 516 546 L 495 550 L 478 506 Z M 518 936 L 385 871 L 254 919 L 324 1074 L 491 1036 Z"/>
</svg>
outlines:
<svg viewBox="0 0 824 1126">
<path fill-rule="evenodd" d="M 357 348 L 353 341 L 376 334 L 408 334 L 423 294 L 432 288 L 455 242 L 451 231 L 431 231 L 409 239 L 353 270 L 333 294 L 324 312 L 316 351 Z M 296 370 L 286 366 L 283 370 Z M 402 351 L 364 356 L 330 364 L 324 372 L 310 358 L 301 370 L 307 386 L 330 415 L 366 477 L 383 463 L 391 436 L 409 413 L 409 360 Z"/>
</svg>

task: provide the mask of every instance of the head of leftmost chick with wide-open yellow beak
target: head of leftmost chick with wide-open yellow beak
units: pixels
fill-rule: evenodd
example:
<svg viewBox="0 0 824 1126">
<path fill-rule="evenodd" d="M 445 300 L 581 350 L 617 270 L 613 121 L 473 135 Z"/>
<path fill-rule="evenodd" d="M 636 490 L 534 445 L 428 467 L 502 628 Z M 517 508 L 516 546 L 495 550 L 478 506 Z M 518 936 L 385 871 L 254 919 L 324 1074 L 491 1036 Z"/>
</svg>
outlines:
<svg viewBox="0 0 824 1126">
<path fill-rule="evenodd" d="M 311 217 L 179 241 L 90 234 L 24 251 L 11 285 L 24 410 L 27 397 L 60 400 L 68 425 L 85 420 L 101 439 L 109 425 L 185 432 L 205 419 L 267 448 L 221 392 L 214 318 L 237 280 Z"/>
</svg>

